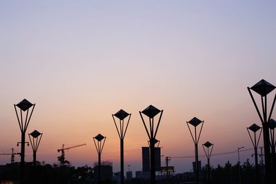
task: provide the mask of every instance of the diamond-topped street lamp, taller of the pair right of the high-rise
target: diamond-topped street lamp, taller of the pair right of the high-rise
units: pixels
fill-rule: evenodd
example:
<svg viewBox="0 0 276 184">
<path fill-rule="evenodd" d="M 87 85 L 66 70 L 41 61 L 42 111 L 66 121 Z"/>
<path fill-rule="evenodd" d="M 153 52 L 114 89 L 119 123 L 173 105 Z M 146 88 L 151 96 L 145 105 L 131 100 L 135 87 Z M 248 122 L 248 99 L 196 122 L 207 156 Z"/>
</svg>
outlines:
<svg viewBox="0 0 276 184">
<path fill-rule="evenodd" d="M 195 136 L 193 136 L 193 133 L 190 131 L 190 135 L 193 138 L 193 141 L 195 143 L 195 176 L 196 176 L 196 180 L 197 180 L 197 184 L 199 183 L 199 164 L 198 164 L 198 143 L 199 143 L 199 137 L 201 134 L 201 130 L 202 127 L 204 125 L 204 121 L 201 121 L 199 119 L 197 119 L 196 117 L 194 117 L 193 119 L 191 119 L 190 121 L 186 121 L 187 125 L 188 125 L 188 129 L 190 131 L 190 125 L 193 125 L 193 127 L 195 127 Z M 199 125 L 201 123 L 201 127 L 200 127 L 200 131 L 199 131 L 199 135 L 197 136 L 197 125 Z"/>
</svg>

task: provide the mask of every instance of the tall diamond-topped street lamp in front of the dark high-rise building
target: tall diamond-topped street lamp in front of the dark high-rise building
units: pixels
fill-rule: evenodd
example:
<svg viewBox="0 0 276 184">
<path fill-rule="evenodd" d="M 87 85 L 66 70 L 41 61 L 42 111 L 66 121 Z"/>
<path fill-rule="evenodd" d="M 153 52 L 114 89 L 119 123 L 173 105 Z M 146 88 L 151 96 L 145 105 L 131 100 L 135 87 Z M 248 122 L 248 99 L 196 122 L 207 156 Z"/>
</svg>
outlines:
<svg viewBox="0 0 276 184">
<path fill-rule="evenodd" d="M 155 127 L 154 117 L 159 113 L 160 113 L 159 120 Z M 139 111 L 139 114 L 141 116 L 144 127 L 146 129 L 146 133 L 148 134 L 148 139 L 150 139 L 150 183 L 155 184 L 155 143 L 158 142 L 158 141 L 156 142 L 155 137 L 161 121 L 163 110 L 159 110 L 155 108 L 153 105 L 150 105 L 142 112 Z M 149 127 L 147 127 L 142 114 L 148 116 Z"/>
</svg>

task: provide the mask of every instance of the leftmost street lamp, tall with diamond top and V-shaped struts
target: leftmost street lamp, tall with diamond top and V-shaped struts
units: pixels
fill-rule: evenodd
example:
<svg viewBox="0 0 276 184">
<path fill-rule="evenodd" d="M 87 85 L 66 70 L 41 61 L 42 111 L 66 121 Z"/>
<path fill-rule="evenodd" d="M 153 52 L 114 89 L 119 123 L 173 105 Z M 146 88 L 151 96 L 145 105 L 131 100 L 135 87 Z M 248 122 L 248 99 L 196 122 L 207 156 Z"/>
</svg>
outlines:
<svg viewBox="0 0 276 184">
<path fill-rule="evenodd" d="M 34 110 L 35 103 L 32 104 L 30 101 L 23 99 L 23 101 L 17 103 L 17 105 L 14 104 L 14 110 L 17 114 L 17 121 L 19 123 L 20 131 L 21 131 L 21 161 L 20 161 L 20 183 L 25 183 L 24 178 L 24 165 L 25 165 L 25 136 L 26 136 L 26 130 L 28 128 L 28 125 L 30 123 L 30 118 L 32 117 L 32 112 Z M 29 109 L 32 107 L 32 110 L 29 115 Z M 19 108 L 20 113 L 17 112 L 17 109 Z M 26 112 L 27 111 L 27 112 Z M 24 114 L 26 112 L 26 114 Z M 20 143 L 20 142 L 19 142 Z M 17 143 L 18 144 L 18 143 Z"/>
</svg>

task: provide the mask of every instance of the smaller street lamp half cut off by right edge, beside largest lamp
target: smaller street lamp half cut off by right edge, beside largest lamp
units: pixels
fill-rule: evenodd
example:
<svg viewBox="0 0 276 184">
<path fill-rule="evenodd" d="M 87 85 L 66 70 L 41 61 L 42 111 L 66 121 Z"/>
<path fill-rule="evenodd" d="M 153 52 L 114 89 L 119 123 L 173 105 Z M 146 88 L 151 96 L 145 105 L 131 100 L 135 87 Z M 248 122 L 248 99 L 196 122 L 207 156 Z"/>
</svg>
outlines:
<svg viewBox="0 0 276 184">
<path fill-rule="evenodd" d="M 272 161 L 272 169 L 273 169 L 273 182 L 276 183 L 275 172 L 276 172 L 276 154 L 275 154 L 275 127 L 276 121 L 274 119 L 270 119 L 268 121 L 268 127 L 270 130 L 270 147 L 271 147 L 271 161 Z"/>
</svg>

